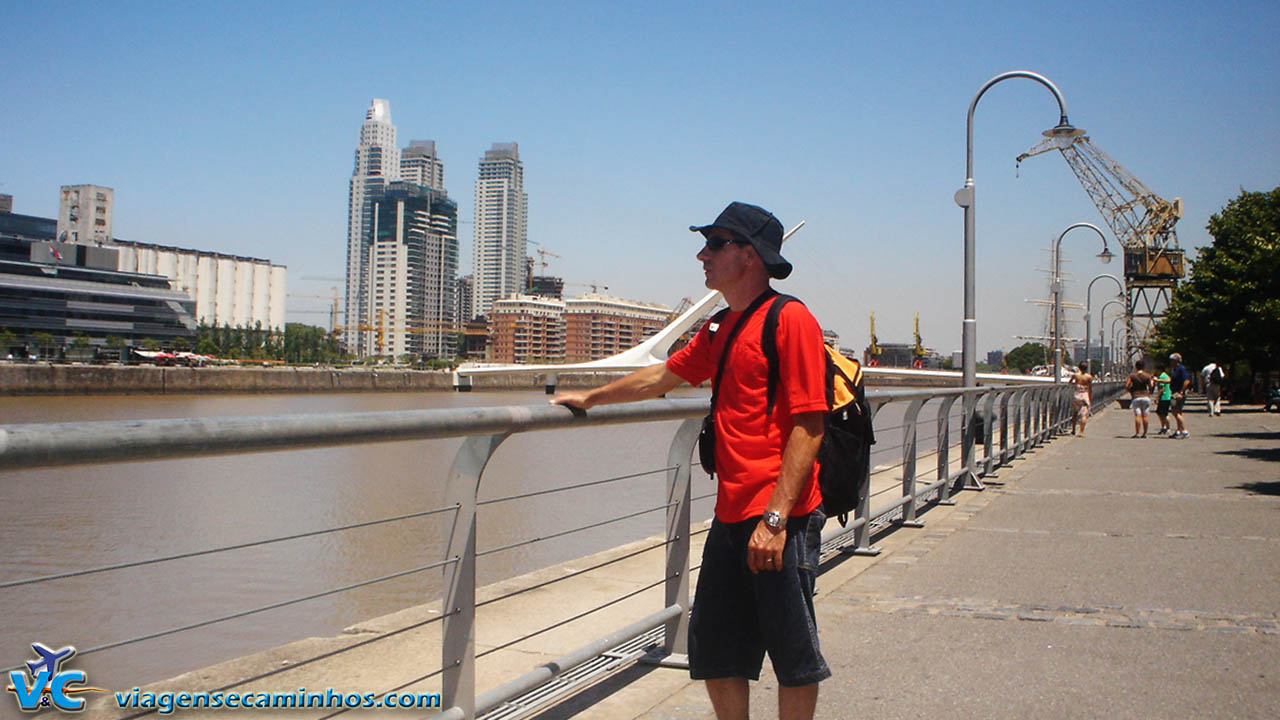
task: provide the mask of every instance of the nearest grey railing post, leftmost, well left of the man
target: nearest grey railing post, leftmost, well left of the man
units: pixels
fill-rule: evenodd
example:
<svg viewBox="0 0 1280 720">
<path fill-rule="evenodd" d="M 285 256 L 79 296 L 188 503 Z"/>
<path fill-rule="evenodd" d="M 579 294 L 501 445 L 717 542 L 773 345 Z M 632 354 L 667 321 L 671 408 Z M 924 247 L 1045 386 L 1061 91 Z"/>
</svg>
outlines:
<svg viewBox="0 0 1280 720">
<path fill-rule="evenodd" d="M 444 566 L 440 696 L 444 707 L 457 707 L 466 720 L 476 711 L 476 495 L 485 464 L 508 434 L 465 439 L 444 486 L 445 502 L 458 510 L 444 551 L 444 559 L 453 562 Z"/>
</svg>

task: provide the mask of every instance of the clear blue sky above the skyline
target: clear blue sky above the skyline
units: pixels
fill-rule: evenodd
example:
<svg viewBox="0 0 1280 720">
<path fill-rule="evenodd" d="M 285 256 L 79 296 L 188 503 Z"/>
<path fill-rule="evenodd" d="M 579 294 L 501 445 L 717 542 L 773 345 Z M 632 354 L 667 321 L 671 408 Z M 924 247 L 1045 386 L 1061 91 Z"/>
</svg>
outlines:
<svg viewBox="0 0 1280 720">
<path fill-rule="evenodd" d="M 436 141 L 463 220 L 476 161 L 520 142 L 530 240 L 570 283 L 675 305 L 704 292 L 689 224 L 731 200 L 806 220 L 780 287 L 859 348 L 873 310 L 882 342 L 909 342 L 919 313 L 925 345 L 960 347 L 952 195 L 969 101 L 1004 70 L 1051 78 L 1074 124 L 1180 196 L 1188 250 L 1242 188 L 1280 184 L 1274 0 L 8 1 L 0 27 L 0 192 L 15 211 L 52 217 L 59 186 L 110 186 L 118 237 L 268 258 L 296 295 L 340 284 L 302 278 L 343 273 L 372 97 L 390 100 L 402 146 Z M 1015 170 L 1056 120 L 1025 79 L 978 105 L 982 352 L 1041 332 L 1024 300 L 1047 295 L 1046 249 L 1071 223 L 1103 224 L 1056 152 Z M 471 225 L 458 234 L 468 268 Z M 1096 245 L 1064 241 L 1066 300 L 1121 272 Z"/>
</svg>

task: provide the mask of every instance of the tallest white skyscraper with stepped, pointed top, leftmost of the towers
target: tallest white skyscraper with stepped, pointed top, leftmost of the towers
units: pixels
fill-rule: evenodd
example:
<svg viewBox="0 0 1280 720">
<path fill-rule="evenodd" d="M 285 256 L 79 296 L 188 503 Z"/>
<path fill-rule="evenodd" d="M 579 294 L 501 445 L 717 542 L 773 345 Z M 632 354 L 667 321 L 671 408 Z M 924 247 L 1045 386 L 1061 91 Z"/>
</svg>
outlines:
<svg viewBox="0 0 1280 720">
<path fill-rule="evenodd" d="M 372 197 L 381 193 L 387 183 L 399 177 L 399 147 L 396 146 L 396 126 L 392 124 L 390 102 L 375 97 L 365 111 L 365 124 L 360 127 L 360 145 L 356 146 L 356 167 L 351 173 L 347 205 L 347 320 L 343 342 L 347 351 L 367 355 L 365 345 L 369 333 L 360 332 L 369 325 L 366 247 L 371 241 Z"/>
</svg>

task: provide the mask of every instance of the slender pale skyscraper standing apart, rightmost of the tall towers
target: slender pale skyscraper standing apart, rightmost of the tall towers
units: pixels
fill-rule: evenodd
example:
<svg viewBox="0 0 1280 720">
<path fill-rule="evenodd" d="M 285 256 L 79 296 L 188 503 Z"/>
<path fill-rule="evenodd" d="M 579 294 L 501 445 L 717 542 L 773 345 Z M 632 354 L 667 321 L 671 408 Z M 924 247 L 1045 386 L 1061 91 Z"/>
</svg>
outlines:
<svg viewBox="0 0 1280 720">
<path fill-rule="evenodd" d="M 488 314 L 494 300 L 524 291 L 527 224 L 520 146 L 495 142 L 480 160 L 476 177 L 472 313 Z"/>
</svg>

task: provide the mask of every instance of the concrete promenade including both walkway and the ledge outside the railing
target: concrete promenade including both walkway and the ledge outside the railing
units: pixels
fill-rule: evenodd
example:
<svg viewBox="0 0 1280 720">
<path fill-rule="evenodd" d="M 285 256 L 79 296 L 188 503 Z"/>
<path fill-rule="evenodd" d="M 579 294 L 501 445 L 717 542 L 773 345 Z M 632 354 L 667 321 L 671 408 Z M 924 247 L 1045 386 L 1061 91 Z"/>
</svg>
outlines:
<svg viewBox="0 0 1280 720">
<path fill-rule="evenodd" d="M 1132 439 L 1132 414 L 1112 402 L 1087 437 L 1059 437 L 1001 469 L 992 479 L 1004 484 L 929 507 L 922 529 L 873 538 L 881 555 L 828 561 L 817 609 L 835 676 L 817 716 L 1280 717 L 1280 415 L 1229 406 L 1210 418 L 1199 401 L 1188 421 L 1188 439 Z M 480 588 L 477 692 L 660 609 L 662 588 L 644 588 L 662 577 L 662 552 L 637 552 L 653 544 Z M 608 559 L 617 562 L 577 575 Z M 564 582 L 540 585 L 552 579 Z M 602 603 L 611 605 L 561 626 Z M 408 609 L 146 689 L 436 692 L 439 612 L 439 602 Z M 753 684 L 755 717 L 776 716 L 774 693 L 765 665 Z M 99 697 L 82 716 L 136 715 Z M 631 665 L 534 717 L 713 714 L 687 671 Z"/>
</svg>

